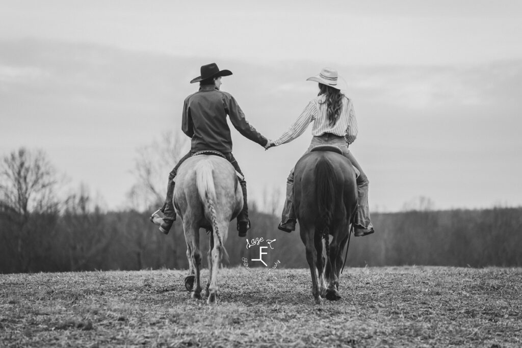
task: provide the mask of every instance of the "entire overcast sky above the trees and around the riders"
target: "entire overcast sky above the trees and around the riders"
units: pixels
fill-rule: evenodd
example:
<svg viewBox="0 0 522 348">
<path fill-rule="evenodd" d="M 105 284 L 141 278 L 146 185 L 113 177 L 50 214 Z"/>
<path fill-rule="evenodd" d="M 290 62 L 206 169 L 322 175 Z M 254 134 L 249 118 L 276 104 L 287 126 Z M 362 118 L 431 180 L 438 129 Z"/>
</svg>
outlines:
<svg viewBox="0 0 522 348">
<path fill-rule="evenodd" d="M 0 154 L 43 149 L 72 185 L 126 206 L 137 149 L 181 125 L 216 62 L 248 121 L 277 138 L 324 66 L 348 83 L 370 206 L 522 205 L 522 2 L 2 1 Z M 284 190 L 310 143 L 265 151 L 232 130 L 251 197 Z M 172 163 L 174 164 L 174 163 Z M 165 178 L 168 173 L 165 173 Z"/>
</svg>

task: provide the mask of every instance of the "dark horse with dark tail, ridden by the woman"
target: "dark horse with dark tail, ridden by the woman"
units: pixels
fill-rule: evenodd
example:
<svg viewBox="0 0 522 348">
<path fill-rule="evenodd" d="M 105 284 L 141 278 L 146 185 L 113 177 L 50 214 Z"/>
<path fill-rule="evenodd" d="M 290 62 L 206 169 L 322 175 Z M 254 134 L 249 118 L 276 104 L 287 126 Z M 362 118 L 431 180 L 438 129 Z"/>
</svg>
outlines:
<svg viewBox="0 0 522 348">
<path fill-rule="evenodd" d="M 341 153 L 335 146 L 315 147 L 298 161 L 294 171 L 294 209 L 317 304 L 322 302 L 321 296 L 329 300 L 341 297 L 338 288 L 342 250 L 357 208 L 355 170 Z M 333 237 L 331 242 L 329 236 Z"/>
</svg>

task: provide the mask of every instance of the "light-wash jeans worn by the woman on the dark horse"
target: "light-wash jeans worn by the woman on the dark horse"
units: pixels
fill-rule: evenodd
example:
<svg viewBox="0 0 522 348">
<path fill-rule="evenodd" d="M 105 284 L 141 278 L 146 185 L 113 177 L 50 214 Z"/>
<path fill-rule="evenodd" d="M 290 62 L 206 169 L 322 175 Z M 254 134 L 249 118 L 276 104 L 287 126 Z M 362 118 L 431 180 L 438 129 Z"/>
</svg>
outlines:
<svg viewBox="0 0 522 348">
<path fill-rule="evenodd" d="M 359 171 L 357 177 L 357 199 L 358 206 L 355 212 L 354 223 L 357 227 L 367 229 L 372 226 L 370 222 L 370 207 L 368 203 L 368 188 L 370 182 L 361 166 L 353 157 L 353 154 L 348 150 L 348 144 L 346 143 L 345 137 L 339 137 L 333 134 L 323 134 L 318 137 L 313 137 L 310 147 L 306 150 L 309 153 L 313 147 L 319 145 L 334 145 L 341 149 L 343 155 L 352 162 L 352 165 Z M 287 178 L 287 198 L 284 201 L 283 213 L 281 215 L 281 222 L 287 223 L 289 220 L 296 221 L 294 207 L 293 207 L 293 183 L 294 183 L 294 170 L 295 167 L 290 171 L 290 175 Z"/>
</svg>

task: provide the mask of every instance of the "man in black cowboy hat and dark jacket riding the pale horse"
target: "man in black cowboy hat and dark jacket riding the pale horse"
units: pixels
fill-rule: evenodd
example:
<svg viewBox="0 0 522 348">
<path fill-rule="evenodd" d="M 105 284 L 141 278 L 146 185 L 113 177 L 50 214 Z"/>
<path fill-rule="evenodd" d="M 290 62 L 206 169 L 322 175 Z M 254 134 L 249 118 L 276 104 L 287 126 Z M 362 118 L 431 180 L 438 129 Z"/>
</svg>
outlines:
<svg viewBox="0 0 522 348">
<path fill-rule="evenodd" d="M 266 146 L 268 140 L 248 124 L 241 107 L 234 97 L 230 93 L 219 89 L 221 77 L 230 75 L 232 75 L 230 70 L 219 70 L 216 63 L 211 63 L 201 66 L 200 76 L 191 80 L 191 83 L 199 82 L 199 91 L 185 99 L 182 121 L 183 133 L 192 139 L 191 150 L 176 164 L 169 174 L 167 198 L 165 198 L 163 207 L 160 209 L 163 213 L 163 221 L 159 229 L 165 234 L 169 233 L 173 222 L 176 220 L 172 194 L 177 169 L 183 161 L 201 151 L 222 155 L 240 174 L 239 182 L 243 191 L 244 204 L 243 210 L 237 218 L 239 236 L 246 236 L 246 231 L 251 227 L 250 220 L 248 220 L 246 181 L 238 162 L 232 155 L 232 139 L 230 128 L 227 124 L 227 115 L 232 125 L 247 139 L 257 142 L 261 146 Z"/>
</svg>

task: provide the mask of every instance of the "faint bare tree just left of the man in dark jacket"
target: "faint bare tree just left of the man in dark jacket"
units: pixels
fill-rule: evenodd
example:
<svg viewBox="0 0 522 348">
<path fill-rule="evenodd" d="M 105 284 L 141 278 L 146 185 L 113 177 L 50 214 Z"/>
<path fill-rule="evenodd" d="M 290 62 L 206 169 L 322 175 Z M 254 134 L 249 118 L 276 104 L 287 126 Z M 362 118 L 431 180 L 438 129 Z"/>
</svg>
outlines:
<svg viewBox="0 0 522 348">
<path fill-rule="evenodd" d="M 128 193 L 131 208 L 144 210 L 162 205 L 169 173 L 188 150 L 188 138 L 172 132 L 138 149 L 132 171 L 136 183 Z"/>
</svg>

